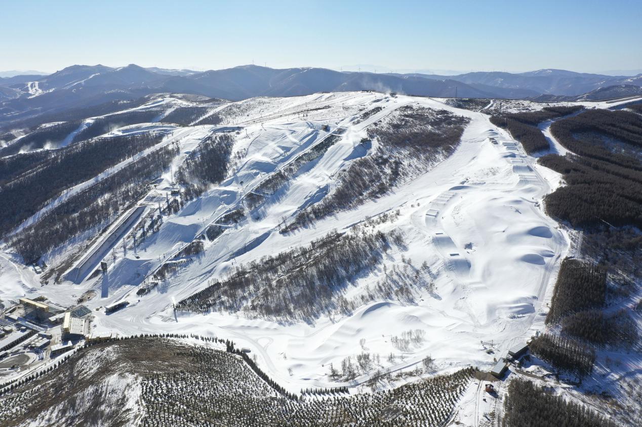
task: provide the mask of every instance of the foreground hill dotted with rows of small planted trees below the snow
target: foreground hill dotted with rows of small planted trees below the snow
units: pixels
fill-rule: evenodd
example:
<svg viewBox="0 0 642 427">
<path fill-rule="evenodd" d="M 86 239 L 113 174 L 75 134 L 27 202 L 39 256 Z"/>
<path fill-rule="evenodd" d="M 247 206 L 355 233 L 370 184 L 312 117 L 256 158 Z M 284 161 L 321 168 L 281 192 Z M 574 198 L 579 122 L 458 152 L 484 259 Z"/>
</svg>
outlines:
<svg viewBox="0 0 642 427">
<path fill-rule="evenodd" d="M 187 339 L 225 350 L 181 342 Z M 90 359 L 95 369 L 83 369 Z M 475 374 L 469 367 L 372 393 L 346 395 L 347 388 L 338 387 L 308 389 L 311 393 L 298 396 L 273 381 L 230 340 L 141 334 L 85 344 L 73 355 L 62 356 L 56 369 L 49 367 L 11 385 L 0 396 L 0 417 L 12 425 L 24 424 L 56 410 L 58 421 L 65 424 L 130 424 L 137 410 L 119 410 L 127 396 L 101 387 L 116 373 L 114 367 L 125 374 L 127 386 L 140 390 L 135 405 L 144 407 L 139 423 L 148 427 L 438 427 Z M 92 389 L 96 385 L 98 391 Z M 90 396 L 90 404 L 79 396 Z M 103 410 L 94 410 L 94 401 L 102 403 Z M 109 405 L 104 405 L 106 401 Z"/>
</svg>

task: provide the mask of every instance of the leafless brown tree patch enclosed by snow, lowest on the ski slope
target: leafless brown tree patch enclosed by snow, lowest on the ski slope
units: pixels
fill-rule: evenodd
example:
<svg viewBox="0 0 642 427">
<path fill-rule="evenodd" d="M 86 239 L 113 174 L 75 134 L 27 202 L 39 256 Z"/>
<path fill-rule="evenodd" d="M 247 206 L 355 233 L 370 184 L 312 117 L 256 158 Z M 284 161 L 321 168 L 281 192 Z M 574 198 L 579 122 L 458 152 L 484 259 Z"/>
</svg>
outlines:
<svg viewBox="0 0 642 427">
<path fill-rule="evenodd" d="M 348 283 L 372 271 L 392 244 L 401 243 L 401 235 L 394 231 L 332 232 L 309 246 L 240 265 L 229 276 L 179 301 L 175 310 L 243 310 L 250 317 L 316 319 L 336 306 Z"/>
</svg>

